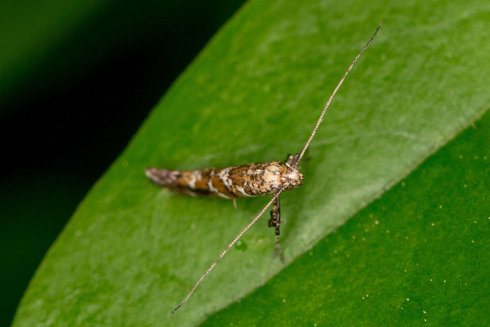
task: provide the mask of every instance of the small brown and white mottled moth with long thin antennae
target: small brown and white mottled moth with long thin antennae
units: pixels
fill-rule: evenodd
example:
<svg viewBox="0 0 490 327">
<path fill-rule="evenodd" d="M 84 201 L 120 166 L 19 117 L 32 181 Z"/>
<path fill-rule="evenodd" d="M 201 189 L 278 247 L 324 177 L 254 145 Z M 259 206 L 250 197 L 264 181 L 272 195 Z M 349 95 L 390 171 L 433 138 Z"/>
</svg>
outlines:
<svg viewBox="0 0 490 327">
<path fill-rule="evenodd" d="M 226 168 L 214 168 L 214 169 L 203 169 L 195 171 L 176 171 L 168 170 L 162 168 L 148 167 L 146 170 L 146 175 L 150 181 L 154 184 L 162 187 L 169 188 L 173 191 L 177 191 L 183 194 L 189 195 L 204 195 L 211 197 L 222 197 L 227 199 L 249 197 L 249 196 L 259 196 L 274 194 L 269 203 L 259 212 L 255 218 L 250 221 L 250 223 L 237 235 L 237 237 L 231 242 L 226 249 L 220 254 L 218 259 L 209 267 L 209 269 L 204 273 L 199 280 L 197 280 L 196 285 L 192 288 L 191 292 L 187 297 L 172 311 L 175 313 L 178 308 L 180 308 L 194 293 L 197 285 L 201 282 L 204 277 L 211 272 L 211 270 L 216 266 L 218 261 L 226 254 L 226 252 L 238 241 L 240 237 L 246 232 L 250 226 L 253 225 L 258 218 L 260 218 L 264 212 L 270 207 L 272 203 L 272 210 L 270 212 L 269 227 L 275 228 L 275 240 L 276 245 L 274 249 L 274 256 L 279 255 L 281 260 L 282 251 L 279 245 L 279 226 L 281 224 L 281 209 L 279 204 L 279 194 L 283 191 L 289 191 L 295 187 L 301 186 L 304 176 L 298 171 L 297 166 L 299 161 L 303 157 L 306 149 L 310 145 L 313 136 L 317 133 L 318 127 L 323 120 L 323 115 L 328 109 L 330 102 L 332 102 L 335 93 L 342 85 L 345 77 L 350 72 L 354 63 L 361 56 L 361 54 L 366 50 L 368 45 L 374 39 L 379 31 L 379 28 L 383 23 L 379 24 L 376 31 L 369 39 L 368 43 L 364 46 L 361 52 L 354 58 L 352 64 L 347 69 L 343 75 L 340 82 L 335 87 L 332 95 L 327 101 L 327 104 L 323 108 L 320 117 L 310 135 L 310 138 L 306 142 L 301 153 L 288 156 L 285 163 L 280 161 L 271 161 L 267 163 L 255 163 L 255 164 L 242 164 L 239 166 L 226 167 Z"/>
</svg>

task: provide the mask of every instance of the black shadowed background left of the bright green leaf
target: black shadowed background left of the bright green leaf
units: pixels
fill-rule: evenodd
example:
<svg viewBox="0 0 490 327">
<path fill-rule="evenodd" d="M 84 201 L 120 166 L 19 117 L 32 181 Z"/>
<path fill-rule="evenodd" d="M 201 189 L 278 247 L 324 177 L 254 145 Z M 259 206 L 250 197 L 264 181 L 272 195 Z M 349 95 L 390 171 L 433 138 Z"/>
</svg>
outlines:
<svg viewBox="0 0 490 327">
<path fill-rule="evenodd" d="M 2 95 L 0 326 L 87 191 L 245 0 L 177 2 L 115 1 Z"/>
</svg>

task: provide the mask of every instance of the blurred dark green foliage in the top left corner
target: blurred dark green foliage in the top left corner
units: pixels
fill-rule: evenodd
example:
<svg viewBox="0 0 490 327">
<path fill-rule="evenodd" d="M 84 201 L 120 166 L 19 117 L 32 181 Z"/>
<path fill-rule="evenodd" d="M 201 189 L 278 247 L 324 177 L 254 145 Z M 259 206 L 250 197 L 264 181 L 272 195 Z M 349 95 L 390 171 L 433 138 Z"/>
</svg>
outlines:
<svg viewBox="0 0 490 327">
<path fill-rule="evenodd" d="M 116 1 L 2 1 L 0 104 L 33 80 L 42 83 L 42 80 L 37 80 L 39 75 L 44 75 L 48 58 L 59 51 L 70 36 L 73 37 L 88 21 L 110 8 L 114 2 Z M 78 46 L 84 45 L 77 44 L 74 47 Z M 74 57 L 78 55 L 75 51 L 69 54 Z M 66 65 L 63 60 L 57 60 L 56 63 Z M 4 114 L 3 110 L 5 108 L 0 108 L 0 115 Z"/>
</svg>

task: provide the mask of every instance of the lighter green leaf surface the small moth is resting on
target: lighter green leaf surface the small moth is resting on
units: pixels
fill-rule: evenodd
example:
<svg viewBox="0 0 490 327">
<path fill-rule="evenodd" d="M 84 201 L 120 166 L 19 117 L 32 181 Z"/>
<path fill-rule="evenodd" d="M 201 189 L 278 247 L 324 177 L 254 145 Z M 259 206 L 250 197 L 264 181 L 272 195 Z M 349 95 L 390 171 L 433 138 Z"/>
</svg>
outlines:
<svg viewBox="0 0 490 327">
<path fill-rule="evenodd" d="M 159 190 L 145 167 L 228 166 L 300 151 L 383 20 L 301 162 L 304 186 L 281 195 L 289 264 L 488 108 L 490 67 L 481 65 L 490 59 L 488 11 L 487 1 L 249 2 L 81 203 L 33 277 L 14 326 L 191 326 L 263 285 L 284 267 L 272 258 L 266 217 L 172 316 L 269 197 L 234 209 L 231 201 Z M 314 267 L 301 267 L 294 276 L 304 283 Z M 341 299 L 336 304 L 349 310 L 353 300 Z M 260 312 L 274 307 L 268 302 Z M 252 314 L 268 316 L 260 312 Z"/>
</svg>

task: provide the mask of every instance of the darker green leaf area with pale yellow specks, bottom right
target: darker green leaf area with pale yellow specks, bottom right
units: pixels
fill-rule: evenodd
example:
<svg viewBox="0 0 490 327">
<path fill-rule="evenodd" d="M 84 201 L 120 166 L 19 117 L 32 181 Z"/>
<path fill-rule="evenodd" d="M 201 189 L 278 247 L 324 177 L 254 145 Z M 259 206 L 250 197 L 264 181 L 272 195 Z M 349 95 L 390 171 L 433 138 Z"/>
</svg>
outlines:
<svg viewBox="0 0 490 327">
<path fill-rule="evenodd" d="M 201 326 L 489 326 L 489 144 L 487 112 Z"/>
</svg>

